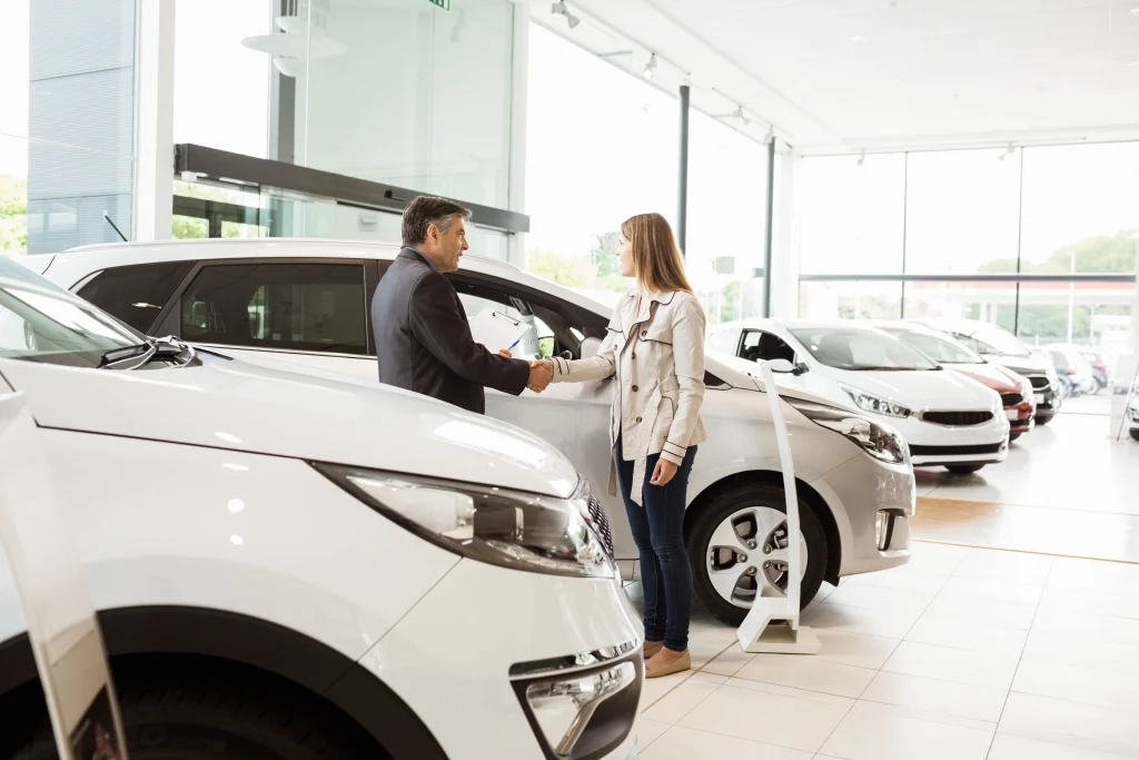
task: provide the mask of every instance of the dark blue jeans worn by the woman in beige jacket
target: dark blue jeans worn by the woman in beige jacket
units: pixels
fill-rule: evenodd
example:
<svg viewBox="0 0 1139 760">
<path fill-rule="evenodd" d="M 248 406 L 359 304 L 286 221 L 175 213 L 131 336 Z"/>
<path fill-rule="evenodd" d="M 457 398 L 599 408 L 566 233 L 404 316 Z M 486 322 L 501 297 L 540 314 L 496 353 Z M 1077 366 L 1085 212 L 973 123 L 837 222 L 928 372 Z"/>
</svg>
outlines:
<svg viewBox="0 0 1139 760">
<path fill-rule="evenodd" d="M 696 447 L 688 447 L 685 461 L 666 485 L 649 485 L 661 455 L 648 458 L 641 502 L 630 499 L 633 463 L 621 456 L 621 440 L 614 447 L 617 482 L 625 500 L 625 514 L 640 551 L 641 586 L 645 590 L 645 638 L 664 640 L 673 652 L 688 648 L 688 620 L 693 607 L 693 570 L 685 550 L 685 502 L 688 475 Z"/>
</svg>

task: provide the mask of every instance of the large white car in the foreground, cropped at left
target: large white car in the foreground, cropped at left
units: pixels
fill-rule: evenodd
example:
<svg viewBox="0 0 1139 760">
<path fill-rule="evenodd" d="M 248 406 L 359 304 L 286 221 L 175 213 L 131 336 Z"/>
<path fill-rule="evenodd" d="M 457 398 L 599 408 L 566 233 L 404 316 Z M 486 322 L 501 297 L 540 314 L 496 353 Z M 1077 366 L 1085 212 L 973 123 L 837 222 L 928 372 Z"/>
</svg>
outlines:
<svg viewBox="0 0 1139 760">
<path fill-rule="evenodd" d="M 642 626 L 544 441 L 147 341 L 3 258 L 0 390 L 58 475 L 134 757 L 636 754 Z M 55 757 L 24 630 L 0 562 L 0 755 Z"/>
</svg>

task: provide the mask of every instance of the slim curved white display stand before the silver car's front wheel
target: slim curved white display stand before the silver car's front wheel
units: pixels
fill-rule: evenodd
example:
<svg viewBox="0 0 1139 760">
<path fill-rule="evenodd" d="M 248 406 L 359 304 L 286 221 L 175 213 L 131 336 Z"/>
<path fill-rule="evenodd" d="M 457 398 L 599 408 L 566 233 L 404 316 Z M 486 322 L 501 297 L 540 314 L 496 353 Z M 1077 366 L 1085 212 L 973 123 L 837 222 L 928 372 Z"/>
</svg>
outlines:
<svg viewBox="0 0 1139 760">
<path fill-rule="evenodd" d="M 760 596 L 740 623 L 736 635 L 745 652 L 778 654 L 817 654 L 821 644 L 810 628 L 798 624 L 800 581 L 803 578 L 803 557 L 800 553 L 798 495 L 795 490 L 795 465 L 790 456 L 787 422 L 779 406 L 779 389 L 771 367 L 760 361 L 760 376 L 771 407 L 771 423 L 776 428 L 779 447 L 779 466 L 784 475 L 784 495 L 787 500 L 787 595 Z"/>
</svg>

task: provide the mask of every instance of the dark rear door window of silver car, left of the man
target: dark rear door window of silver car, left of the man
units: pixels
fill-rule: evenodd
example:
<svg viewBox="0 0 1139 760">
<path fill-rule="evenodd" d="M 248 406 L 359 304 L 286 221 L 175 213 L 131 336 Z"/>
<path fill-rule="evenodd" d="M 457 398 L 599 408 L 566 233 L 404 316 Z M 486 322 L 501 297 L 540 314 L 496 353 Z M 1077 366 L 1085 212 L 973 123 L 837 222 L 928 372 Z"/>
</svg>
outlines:
<svg viewBox="0 0 1139 760">
<path fill-rule="evenodd" d="M 205 267 L 182 295 L 181 324 L 202 343 L 364 354 L 363 264 Z"/>
</svg>

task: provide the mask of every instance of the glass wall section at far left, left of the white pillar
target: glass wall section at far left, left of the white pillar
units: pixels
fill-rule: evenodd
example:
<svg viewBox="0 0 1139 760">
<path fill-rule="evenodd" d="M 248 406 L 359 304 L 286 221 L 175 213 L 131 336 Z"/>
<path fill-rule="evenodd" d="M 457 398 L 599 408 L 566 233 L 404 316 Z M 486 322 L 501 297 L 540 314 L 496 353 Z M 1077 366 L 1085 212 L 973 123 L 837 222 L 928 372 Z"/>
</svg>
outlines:
<svg viewBox="0 0 1139 760">
<path fill-rule="evenodd" d="M 130 234 L 134 0 L 6 0 L 0 71 L 0 252 Z"/>
</svg>

